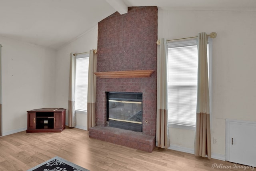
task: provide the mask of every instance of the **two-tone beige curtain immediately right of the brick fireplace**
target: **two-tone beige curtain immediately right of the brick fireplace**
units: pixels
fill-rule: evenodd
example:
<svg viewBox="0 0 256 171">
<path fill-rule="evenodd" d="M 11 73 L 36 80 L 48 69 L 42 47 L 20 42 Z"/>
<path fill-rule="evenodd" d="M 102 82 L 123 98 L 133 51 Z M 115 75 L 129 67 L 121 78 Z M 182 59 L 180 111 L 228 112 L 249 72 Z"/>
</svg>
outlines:
<svg viewBox="0 0 256 171">
<path fill-rule="evenodd" d="M 167 48 L 166 40 L 160 39 L 157 54 L 157 111 L 156 111 L 156 146 L 170 146 L 168 128 L 168 90 L 167 90 Z"/>
</svg>

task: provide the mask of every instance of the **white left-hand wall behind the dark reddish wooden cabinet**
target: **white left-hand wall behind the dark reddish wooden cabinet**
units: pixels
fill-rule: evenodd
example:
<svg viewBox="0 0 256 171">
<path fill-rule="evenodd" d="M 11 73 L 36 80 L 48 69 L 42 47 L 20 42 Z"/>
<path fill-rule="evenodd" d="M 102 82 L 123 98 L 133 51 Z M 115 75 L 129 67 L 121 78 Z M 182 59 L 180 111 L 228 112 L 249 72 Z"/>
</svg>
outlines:
<svg viewBox="0 0 256 171">
<path fill-rule="evenodd" d="M 3 135 L 27 129 L 27 110 L 55 107 L 56 51 L 0 37 Z"/>
</svg>

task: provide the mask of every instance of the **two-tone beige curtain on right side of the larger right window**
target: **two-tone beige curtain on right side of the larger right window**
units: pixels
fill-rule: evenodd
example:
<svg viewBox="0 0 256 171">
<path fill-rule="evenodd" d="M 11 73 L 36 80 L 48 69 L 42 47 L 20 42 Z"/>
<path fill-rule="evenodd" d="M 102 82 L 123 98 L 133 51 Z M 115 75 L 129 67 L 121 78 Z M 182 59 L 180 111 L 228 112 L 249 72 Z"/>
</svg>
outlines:
<svg viewBox="0 0 256 171">
<path fill-rule="evenodd" d="M 206 33 L 198 34 L 198 88 L 196 104 L 196 136 L 194 153 L 211 159 L 210 103 L 208 86 Z"/>
</svg>

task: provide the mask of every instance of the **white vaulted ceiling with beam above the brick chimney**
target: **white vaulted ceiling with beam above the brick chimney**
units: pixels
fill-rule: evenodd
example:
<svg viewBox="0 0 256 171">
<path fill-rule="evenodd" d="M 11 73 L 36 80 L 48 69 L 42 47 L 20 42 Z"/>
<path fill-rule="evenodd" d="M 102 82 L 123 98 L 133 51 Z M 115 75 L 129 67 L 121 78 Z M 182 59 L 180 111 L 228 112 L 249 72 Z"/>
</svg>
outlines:
<svg viewBox="0 0 256 171">
<path fill-rule="evenodd" d="M 0 0 L 0 36 L 59 49 L 128 6 L 256 12 L 256 0 Z"/>
</svg>

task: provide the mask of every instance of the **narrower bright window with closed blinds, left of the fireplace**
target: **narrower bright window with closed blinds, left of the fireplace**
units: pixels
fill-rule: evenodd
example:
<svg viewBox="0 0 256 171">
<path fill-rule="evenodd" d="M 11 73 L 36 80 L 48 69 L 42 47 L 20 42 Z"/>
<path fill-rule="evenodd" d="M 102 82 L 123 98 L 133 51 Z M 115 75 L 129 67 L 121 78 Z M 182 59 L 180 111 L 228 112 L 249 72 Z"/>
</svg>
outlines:
<svg viewBox="0 0 256 171">
<path fill-rule="evenodd" d="M 76 112 L 87 112 L 89 54 L 76 56 Z"/>
</svg>

